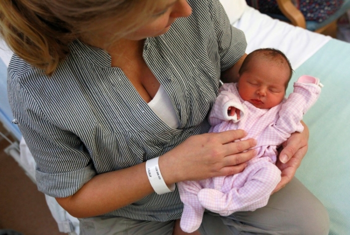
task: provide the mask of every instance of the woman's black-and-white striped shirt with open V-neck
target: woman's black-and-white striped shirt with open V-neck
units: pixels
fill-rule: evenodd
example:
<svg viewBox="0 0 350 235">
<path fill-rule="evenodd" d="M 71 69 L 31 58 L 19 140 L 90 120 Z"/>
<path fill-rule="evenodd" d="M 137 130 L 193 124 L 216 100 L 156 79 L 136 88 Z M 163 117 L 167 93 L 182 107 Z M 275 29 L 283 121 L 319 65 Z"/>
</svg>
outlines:
<svg viewBox="0 0 350 235">
<path fill-rule="evenodd" d="M 36 162 L 38 190 L 53 197 L 72 195 L 97 174 L 160 156 L 209 130 L 206 117 L 220 72 L 240 59 L 246 42 L 217 0 L 188 2 L 192 14 L 177 19 L 166 34 L 147 38 L 143 48 L 178 116 L 177 129 L 159 119 L 103 50 L 74 41 L 49 78 L 12 57 L 9 101 Z M 180 218 L 181 211 L 175 190 L 151 193 L 104 216 L 167 221 Z"/>
</svg>

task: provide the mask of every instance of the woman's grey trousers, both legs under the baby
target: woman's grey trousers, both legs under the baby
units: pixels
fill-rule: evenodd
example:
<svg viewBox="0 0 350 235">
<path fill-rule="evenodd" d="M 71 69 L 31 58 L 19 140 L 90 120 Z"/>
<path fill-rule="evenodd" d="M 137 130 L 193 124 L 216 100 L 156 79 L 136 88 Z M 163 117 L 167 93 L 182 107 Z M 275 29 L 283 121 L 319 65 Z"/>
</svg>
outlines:
<svg viewBox="0 0 350 235">
<path fill-rule="evenodd" d="M 80 235 L 171 235 L 174 221 L 91 217 L 80 220 Z M 227 217 L 205 211 L 202 235 L 290 234 L 327 235 L 329 218 L 322 203 L 294 178 L 271 195 L 266 206 Z"/>
</svg>

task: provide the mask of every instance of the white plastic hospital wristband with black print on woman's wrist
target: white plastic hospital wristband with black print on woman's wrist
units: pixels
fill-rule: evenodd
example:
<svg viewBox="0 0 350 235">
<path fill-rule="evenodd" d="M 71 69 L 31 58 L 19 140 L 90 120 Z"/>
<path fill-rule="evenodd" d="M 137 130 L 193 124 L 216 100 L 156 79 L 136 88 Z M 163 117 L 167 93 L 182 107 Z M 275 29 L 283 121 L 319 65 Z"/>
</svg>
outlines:
<svg viewBox="0 0 350 235">
<path fill-rule="evenodd" d="M 159 170 L 158 159 L 159 157 L 156 157 L 146 161 L 146 172 L 150 185 L 157 194 L 172 192 L 175 189 L 175 184 L 172 184 L 170 188 L 166 186 Z"/>
</svg>

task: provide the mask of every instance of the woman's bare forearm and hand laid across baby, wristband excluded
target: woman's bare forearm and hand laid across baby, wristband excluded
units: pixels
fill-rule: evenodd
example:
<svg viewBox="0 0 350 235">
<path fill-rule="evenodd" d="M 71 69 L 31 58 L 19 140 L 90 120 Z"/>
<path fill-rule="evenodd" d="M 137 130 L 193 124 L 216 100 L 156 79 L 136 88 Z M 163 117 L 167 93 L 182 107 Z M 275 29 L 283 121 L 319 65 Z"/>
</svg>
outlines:
<svg viewBox="0 0 350 235">
<path fill-rule="evenodd" d="M 159 168 L 167 185 L 183 180 L 199 180 L 242 171 L 245 161 L 255 155 L 256 141 L 243 138 L 242 130 L 207 133 L 189 137 L 159 157 Z M 137 201 L 153 192 L 145 163 L 96 175 L 76 193 L 57 202 L 75 217 L 100 215 Z"/>
</svg>

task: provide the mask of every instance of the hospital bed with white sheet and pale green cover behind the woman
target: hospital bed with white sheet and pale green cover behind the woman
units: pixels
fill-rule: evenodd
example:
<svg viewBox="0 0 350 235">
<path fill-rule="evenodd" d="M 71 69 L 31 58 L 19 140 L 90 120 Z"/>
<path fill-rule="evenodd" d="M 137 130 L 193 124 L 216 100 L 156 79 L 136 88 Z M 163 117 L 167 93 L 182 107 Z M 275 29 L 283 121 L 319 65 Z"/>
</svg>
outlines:
<svg viewBox="0 0 350 235">
<path fill-rule="evenodd" d="M 327 208 L 329 234 L 350 234 L 350 44 L 272 20 L 241 0 L 221 0 L 221 3 L 230 23 L 244 31 L 247 53 L 257 48 L 277 48 L 291 62 L 294 70 L 291 83 L 307 74 L 319 78 L 324 85 L 320 98 L 303 119 L 310 130 L 309 148 L 296 177 Z M 11 54 L 10 50 L 0 50 L 0 120 L 16 140 L 6 152 L 35 182 L 35 162 L 17 126 L 11 123 L 5 95 L 6 66 Z M 289 86 L 287 93 L 291 90 Z M 78 220 L 54 198 L 46 196 L 46 201 L 59 230 L 79 234 Z"/>
</svg>

